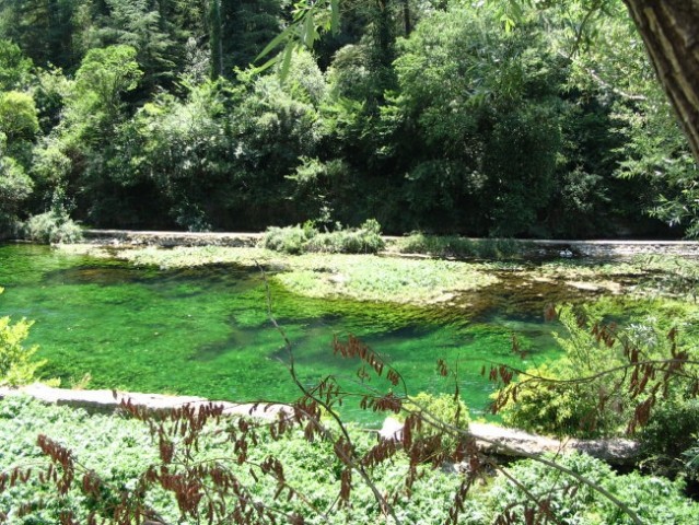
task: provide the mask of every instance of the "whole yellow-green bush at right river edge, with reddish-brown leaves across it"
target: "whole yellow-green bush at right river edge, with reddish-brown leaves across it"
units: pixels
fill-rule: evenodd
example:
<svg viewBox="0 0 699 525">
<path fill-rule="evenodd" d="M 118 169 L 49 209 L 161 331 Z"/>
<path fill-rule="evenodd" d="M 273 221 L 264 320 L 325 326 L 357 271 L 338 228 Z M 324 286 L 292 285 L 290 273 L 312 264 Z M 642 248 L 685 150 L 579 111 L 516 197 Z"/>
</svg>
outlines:
<svg viewBox="0 0 699 525">
<path fill-rule="evenodd" d="M 646 434 L 649 457 L 689 446 L 685 434 L 699 430 L 699 409 L 678 396 L 691 396 L 695 388 L 694 373 L 685 372 L 694 362 L 694 329 L 678 329 L 678 318 L 632 319 L 621 328 L 584 308 L 558 314 L 567 334 L 554 337 L 564 358 L 515 381 L 501 375 L 506 386 L 493 395 L 493 408 L 503 420 L 535 432 L 597 436 L 633 434 L 657 417 Z M 678 448 L 663 444 L 673 435 Z"/>
</svg>

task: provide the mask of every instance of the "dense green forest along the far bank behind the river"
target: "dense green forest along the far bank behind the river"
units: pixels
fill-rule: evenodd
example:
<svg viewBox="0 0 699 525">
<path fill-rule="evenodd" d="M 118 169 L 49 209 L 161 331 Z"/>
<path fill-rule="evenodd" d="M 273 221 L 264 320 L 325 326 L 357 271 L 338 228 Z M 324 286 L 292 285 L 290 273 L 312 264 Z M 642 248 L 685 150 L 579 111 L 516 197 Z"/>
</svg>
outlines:
<svg viewBox="0 0 699 525">
<path fill-rule="evenodd" d="M 621 1 L 498 3 L 348 0 L 265 69 L 283 0 L 3 0 L 1 229 L 696 234 Z"/>
</svg>

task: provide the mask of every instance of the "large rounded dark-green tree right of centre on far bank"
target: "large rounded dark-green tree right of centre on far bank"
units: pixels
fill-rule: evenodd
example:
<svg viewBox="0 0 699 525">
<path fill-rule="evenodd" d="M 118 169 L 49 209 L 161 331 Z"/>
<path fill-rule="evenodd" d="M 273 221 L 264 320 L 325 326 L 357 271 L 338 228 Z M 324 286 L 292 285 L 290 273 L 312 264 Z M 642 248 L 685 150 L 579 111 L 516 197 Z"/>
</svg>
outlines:
<svg viewBox="0 0 699 525">
<path fill-rule="evenodd" d="M 394 153 L 411 159 L 411 209 L 435 226 L 506 236 L 528 233 L 551 198 L 562 103 L 559 60 L 536 33 L 497 25 L 466 9 L 426 19 L 401 43 L 400 95 L 384 116 L 395 132 L 417 130 Z"/>
</svg>

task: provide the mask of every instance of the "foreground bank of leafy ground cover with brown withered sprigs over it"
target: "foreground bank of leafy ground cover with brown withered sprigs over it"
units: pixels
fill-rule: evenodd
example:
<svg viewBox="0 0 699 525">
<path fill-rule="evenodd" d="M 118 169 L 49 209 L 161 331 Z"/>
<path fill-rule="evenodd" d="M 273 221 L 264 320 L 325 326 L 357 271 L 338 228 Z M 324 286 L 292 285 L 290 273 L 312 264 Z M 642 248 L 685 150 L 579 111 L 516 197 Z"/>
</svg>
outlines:
<svg viewBox="0 0 699 525">
<path fill-rule="evenodd" d="M 620 521 L 619 508 L 590 487 L 603 487 L 649 525 L 690 525 L 699 518 L 699 505 L 683 494 L 681 482 L 617 474 L 583 454 L 543 458 L 560 468 L 532 460 L 506 468 L 474 463 L 479 476 L 465 494 L 464 469 L 434 468 L 429 460 L 413 465 L 400 448 L 378 458 L 376 438 L 353 424 L 340 434 L 326 421 L 329 435 L 310 440 L 302 428 L 280 434 L 278 425 L 270 432 L 265 422 L 232 425 L 228 418 L 178 413 L 172 419 L 125 418 L 86 415 L 26 396 L 0 399 L 0 512 L 9 523 L 60 523 L 67 515 L 72 523 L 91 523 L 95 512 L 110 521 L 119 502 L 144 502 L 148 523 L 195 525 L 212 504 L 223 509 L 214 523 L 242 522 L 226 509 L 243 502 L 246 509 L 272 509 L 273 523 L 287 515 L 310 525 L 393 523 L 358 475 L 359 467 L 347 468 L 342 451 L 333 446 L 351 440 L 356 465 L 371 466 L 363 469 L 366 478 L 405 524 L 446 523 L 455 501 L 464 503 L 458 523 L 496 523 L 513 505 L 531 504 L 537 488 L 546 489 L 555 509 L 570 505 L 576 523 L 627 523 Z M 469 455 L 484 458 L 475 451 Z M 417 476 L 406 487 L 412 468 Z M 581 480 L 592 485 L 581 486 Z M 337 505 L 338 494 L 348 504 Z M 198 504 L 184 513 L 183 501 Z M 145 521 L 140 516 L 138 523 Z"/>
</svg>

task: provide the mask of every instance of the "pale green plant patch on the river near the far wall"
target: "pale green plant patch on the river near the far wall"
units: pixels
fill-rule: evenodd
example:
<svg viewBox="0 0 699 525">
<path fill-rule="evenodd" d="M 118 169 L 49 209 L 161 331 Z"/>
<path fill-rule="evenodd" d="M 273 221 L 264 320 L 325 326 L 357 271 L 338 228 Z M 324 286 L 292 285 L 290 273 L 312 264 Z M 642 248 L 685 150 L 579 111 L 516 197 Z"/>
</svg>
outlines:
<svg viewBox="0 0 699 525">
<path fill-rule="evenodd" d="M 308 298 L 346 298 L 356 301 L 429 304 L 448 301 L 459 291 L 497 282 L 487 264 L 445 260 L 409 260 L 374 255 L 284 255 L 264 248 L 221 246 L 145 247 L 107 252 L 104 248 L 70 246 L 69 253 L 110 254 L 139 266 L 161 269 L 234 264 L 269 270 L 270 280 Z"/>
</svg>

